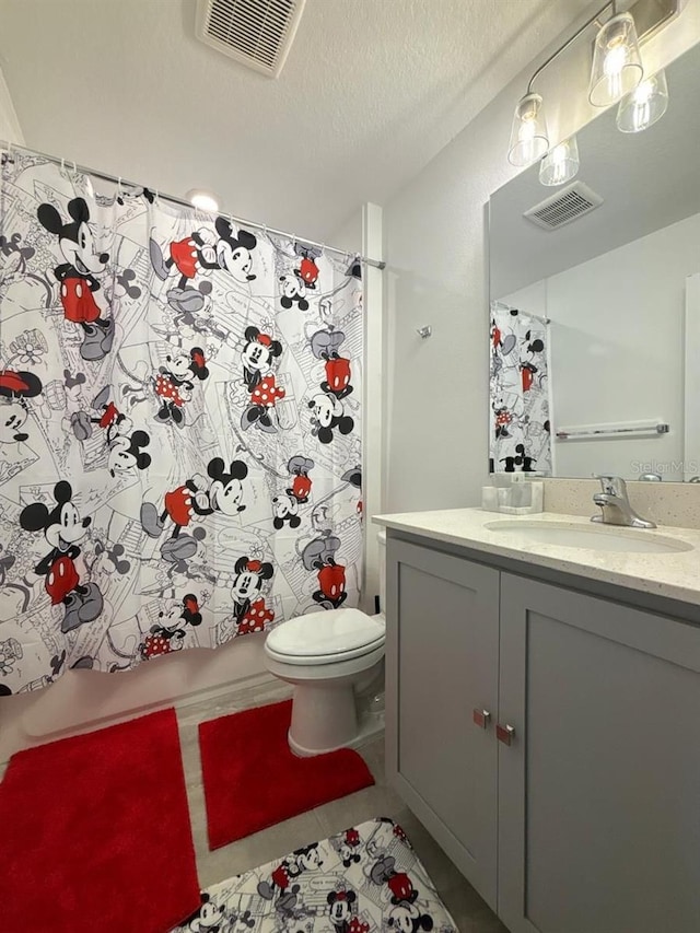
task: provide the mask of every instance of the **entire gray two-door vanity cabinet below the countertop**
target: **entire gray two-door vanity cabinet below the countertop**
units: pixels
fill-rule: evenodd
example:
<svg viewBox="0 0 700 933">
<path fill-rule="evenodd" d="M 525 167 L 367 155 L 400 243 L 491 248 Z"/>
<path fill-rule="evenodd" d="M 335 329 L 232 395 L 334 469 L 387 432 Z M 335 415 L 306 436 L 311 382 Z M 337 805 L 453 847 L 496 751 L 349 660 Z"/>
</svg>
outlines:
<svg viewBox="0 0 700 933">
<path fill-rule="evenodd" d="M 394 784 L 512 933 L 700 931 L 700 629 L 389 536 L 386 666 Z"/>
</svg>

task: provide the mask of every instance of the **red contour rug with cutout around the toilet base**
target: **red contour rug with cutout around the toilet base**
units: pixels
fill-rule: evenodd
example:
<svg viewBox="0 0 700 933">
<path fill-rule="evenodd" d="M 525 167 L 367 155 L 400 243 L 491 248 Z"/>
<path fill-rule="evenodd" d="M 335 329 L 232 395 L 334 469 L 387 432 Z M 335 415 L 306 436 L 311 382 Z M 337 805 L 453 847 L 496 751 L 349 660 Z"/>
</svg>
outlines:
<svg viewBox="0 0 700 933">
<path fill-rule="evenodd" d="M 293 755 L 287 744 L 291 716 L 292 701 L 285 700 L 200 723 L 210 849 L 374 783 L 351 748 Z"/>
</svg>

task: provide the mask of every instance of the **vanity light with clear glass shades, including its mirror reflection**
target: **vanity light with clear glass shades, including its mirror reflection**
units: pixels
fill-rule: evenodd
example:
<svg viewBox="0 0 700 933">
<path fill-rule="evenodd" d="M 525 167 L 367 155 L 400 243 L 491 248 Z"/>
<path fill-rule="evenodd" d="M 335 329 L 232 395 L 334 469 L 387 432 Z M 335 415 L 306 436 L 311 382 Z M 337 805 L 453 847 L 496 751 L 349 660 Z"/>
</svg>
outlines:
<svg viewBox="0 0 700 933">
<path fill-rule="evenodd" d="M 525 166 L 541 159 L 549 149 L 547 123 L 545 120 L 545 105 L 541 94 L 533 90 L 535 80 L 562 51 L 575 42 L 579 36 L 594 23 L 598 26 L 593 50 L 593 66 L 591 69 L 591 81 L 588 86 L 588 101 L 595 107 L 607 107 L 617 101 L 626 103 L 627 96 L 640 85 L 644 75 L 644 69 L 639 51 L 639 43 L 656 33 L 662 26 L 678 14 L 680 0 L 635 0 L 631 11 L 618 13 L 618 0 L 608 0 L 593 16 L 580 26 L 567 42 L 553 51 L 539 68 L 536 69 L 527 83 L 527 91 L 515 107 L 511 138 L 508 148 L 508 159 L 512 165 Z M 605 23 L 600 23 L 600 16 L 610 12 L 611 15 Z M 638 30 L 639 27 L 639 30 Z M 638 35 L 639 31 L 639 35 Z M 663 78 L 663 72 L 660 72 Z M 667 97 L 667 92 L 666 97 Z M 658 119 L 665 107 L 662 107 L 664 95 L 663 88 L 654 93 L 645 89 L 642 94 L 648 96 L 638 98 L 637 112 L 633 115 L 622 116 L 622 106 L 618 114 L 618 127 L 623 132 L 637 132 L 651 126 Z M 656 101 L 655 96 L 658 96 Z M 646 109 L 645 109 L 646 107 Z M 657 110 L 660 112 L 657 113 Z M 649 119 L 646 118 L 649 112 Z M 653 118 L 652 118 L 653 117 Z M 623 128 L 626 120 L 630 120 L 630 128 Z M 623 126 L 620 126 L 622 120 Z M 575 141 L 575 140 L 574 140 Z M 568 140 L 567 142 L 571 142 Z M 563 144 L 563 143 L 562 143 Z M 557 147 L 547 155 L 552 156 Z M 557 153 L 557 159 L 563 161 L 562 152 Z M 540 173 L 549 177 L 548 167 L 540 166 Z M 572 164 L 569 171 L 572 171 Z M 562 171 L 559 165 L 558 173 Z M 557 173 L 555 173 L 557 174 Z M 562 180 L 572 178 L 575 172 Z M 561 184 L 560 182 L 540 180 L 546 185 Z"/>
</svg>

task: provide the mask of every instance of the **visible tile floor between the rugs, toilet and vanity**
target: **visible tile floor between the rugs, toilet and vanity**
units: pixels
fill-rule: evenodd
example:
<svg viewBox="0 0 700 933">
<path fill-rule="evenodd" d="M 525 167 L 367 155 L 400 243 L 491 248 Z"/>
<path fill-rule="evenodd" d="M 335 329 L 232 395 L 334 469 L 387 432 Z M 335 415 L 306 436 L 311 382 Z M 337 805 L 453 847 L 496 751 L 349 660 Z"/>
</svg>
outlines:
<svg viewBox="0 0 700 933">
<path fill-rule="evenodd" d="M 508 933 L 505 926 L 459 874 L 430 833 L 406 808 L 401 798 L 387 786 L 384 778 L 383 738 L 359 749 L 374 775 L 374 786 L 316 807 L 214 852 L 209 851 L 197 739 L 198 723 L 248 707 L 276 702 L 288 696 L 285 685 L 262 680 L 237 691 L 225 701 L 218 699 L 178 710 L 197 867 L 202 887 L 281 858 L 300 845 L 325 839 L 371 817 L 390 816 L 406 829 L 460 933 Z"/>
</svg>

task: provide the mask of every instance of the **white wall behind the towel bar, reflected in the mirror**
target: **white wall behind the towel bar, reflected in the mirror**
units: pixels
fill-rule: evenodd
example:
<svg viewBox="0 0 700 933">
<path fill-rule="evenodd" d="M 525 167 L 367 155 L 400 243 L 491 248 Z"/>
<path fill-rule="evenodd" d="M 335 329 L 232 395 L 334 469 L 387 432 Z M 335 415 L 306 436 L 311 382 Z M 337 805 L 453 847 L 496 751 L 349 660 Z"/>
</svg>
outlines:
<svg viewBox="0 0 700 933">
<path fill-rule="evenodd" d="M 503 299 L 551 319 L 557 476 L 611 473 L 635 479 L 651 471 L 682 479 L 685 279 L 697 271 L 700 214 Z M 668 422 L 670 432 L 556 439 L 561 427 L 654 419 Z"/>
</svg>

